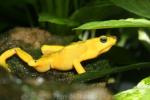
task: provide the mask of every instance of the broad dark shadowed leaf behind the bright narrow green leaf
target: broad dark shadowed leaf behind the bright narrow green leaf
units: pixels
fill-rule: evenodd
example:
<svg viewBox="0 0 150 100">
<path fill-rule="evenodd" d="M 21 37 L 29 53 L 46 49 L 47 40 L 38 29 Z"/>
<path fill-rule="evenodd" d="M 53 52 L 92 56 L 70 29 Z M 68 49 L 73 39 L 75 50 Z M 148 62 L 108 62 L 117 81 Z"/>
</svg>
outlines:
<svg viewBox="0 0 150 100">
<path fill-rule="evenodd" d="M 89 4 L 87 6 L 81 7 L 80 9 L 77 9 L 71 15 L 71 19 L 85 23 L 94 20 L 118 19 L 126 16 L 127 14 L 128 13 L 125 12 L 125 10 L 120 9 L 119 7 L 116 7 L 109 2 L 93 2 L 93 4 Z"/>
</svg>

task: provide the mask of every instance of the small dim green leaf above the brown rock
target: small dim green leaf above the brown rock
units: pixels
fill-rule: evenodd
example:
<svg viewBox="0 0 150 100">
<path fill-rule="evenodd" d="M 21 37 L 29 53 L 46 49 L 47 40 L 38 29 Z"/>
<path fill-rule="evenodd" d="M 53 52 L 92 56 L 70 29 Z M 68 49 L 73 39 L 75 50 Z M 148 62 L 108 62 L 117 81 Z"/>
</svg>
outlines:
<svg viewBox="0 0 150 100">
<path fill-rule="evenodd" d="M 79 23 L 76 21 L 73 21 L 71 19 L 67 18 L 60 18 L 56 16 L 51 16 L 48 14 L 40 14 L 39 15 L 39 21 L 40 22 L 49 22 L 59 25 L 67 25 L 67 26 L 77 26 Z"/>
</svg>

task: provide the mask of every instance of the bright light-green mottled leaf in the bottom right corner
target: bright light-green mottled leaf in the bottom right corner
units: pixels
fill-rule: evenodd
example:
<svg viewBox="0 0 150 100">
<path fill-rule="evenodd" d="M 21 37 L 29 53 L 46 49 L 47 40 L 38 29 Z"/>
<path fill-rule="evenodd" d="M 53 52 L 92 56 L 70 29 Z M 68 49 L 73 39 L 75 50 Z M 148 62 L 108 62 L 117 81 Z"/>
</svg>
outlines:
<svg viewBox="0 0 150 100">
<path fill-rule="evenodd" d="M 150 77 L 143 79 L 132 89 L 114 95 L 115 100 L 150 100 Z"/>
</svg>

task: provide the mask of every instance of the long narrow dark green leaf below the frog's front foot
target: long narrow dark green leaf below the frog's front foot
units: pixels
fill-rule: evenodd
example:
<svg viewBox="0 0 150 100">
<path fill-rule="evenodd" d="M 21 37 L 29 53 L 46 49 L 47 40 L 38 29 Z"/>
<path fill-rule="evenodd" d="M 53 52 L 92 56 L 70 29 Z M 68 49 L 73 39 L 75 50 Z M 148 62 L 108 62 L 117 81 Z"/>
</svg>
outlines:
<svg viewBox="0 0 150 100">
<path fill-rule="evenodd" d="M 77 75 L 74 77 L 74 80 L 72 82 L 87 82 L 87 81 L 101 78 L 101 77 L 104 77 L 106 75 L 110 75 L 113 73 L 120 73 L 123 71 L 145 68 L 149 66 L 150 66 L 150 62 L 143 62 L 143 63 L 136 63 L 136 64 L 127 65 L 127 66 L 119 66 L 119 67 L 113 67 L 113 68 L 110 67 L 106 69 L 86 72 L 84 74 Z"/>
</svg>

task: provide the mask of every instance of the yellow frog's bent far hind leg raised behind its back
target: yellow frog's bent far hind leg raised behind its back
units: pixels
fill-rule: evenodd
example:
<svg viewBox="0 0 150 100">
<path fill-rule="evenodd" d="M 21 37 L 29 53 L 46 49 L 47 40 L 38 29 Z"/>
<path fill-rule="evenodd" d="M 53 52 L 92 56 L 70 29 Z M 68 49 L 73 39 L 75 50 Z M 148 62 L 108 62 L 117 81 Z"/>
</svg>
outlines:
<svg viewBox="0 0 150 100">
<path fill-rule="evenodd" d="M 61 46 L 61 45 L 43 45 L 41 47 L 41 51 L 44 55 L 46 55 L 46 54 L 50 54 L 53 52 L 57 52 L 63 48 L 64 46 Z"/>
</svg>

